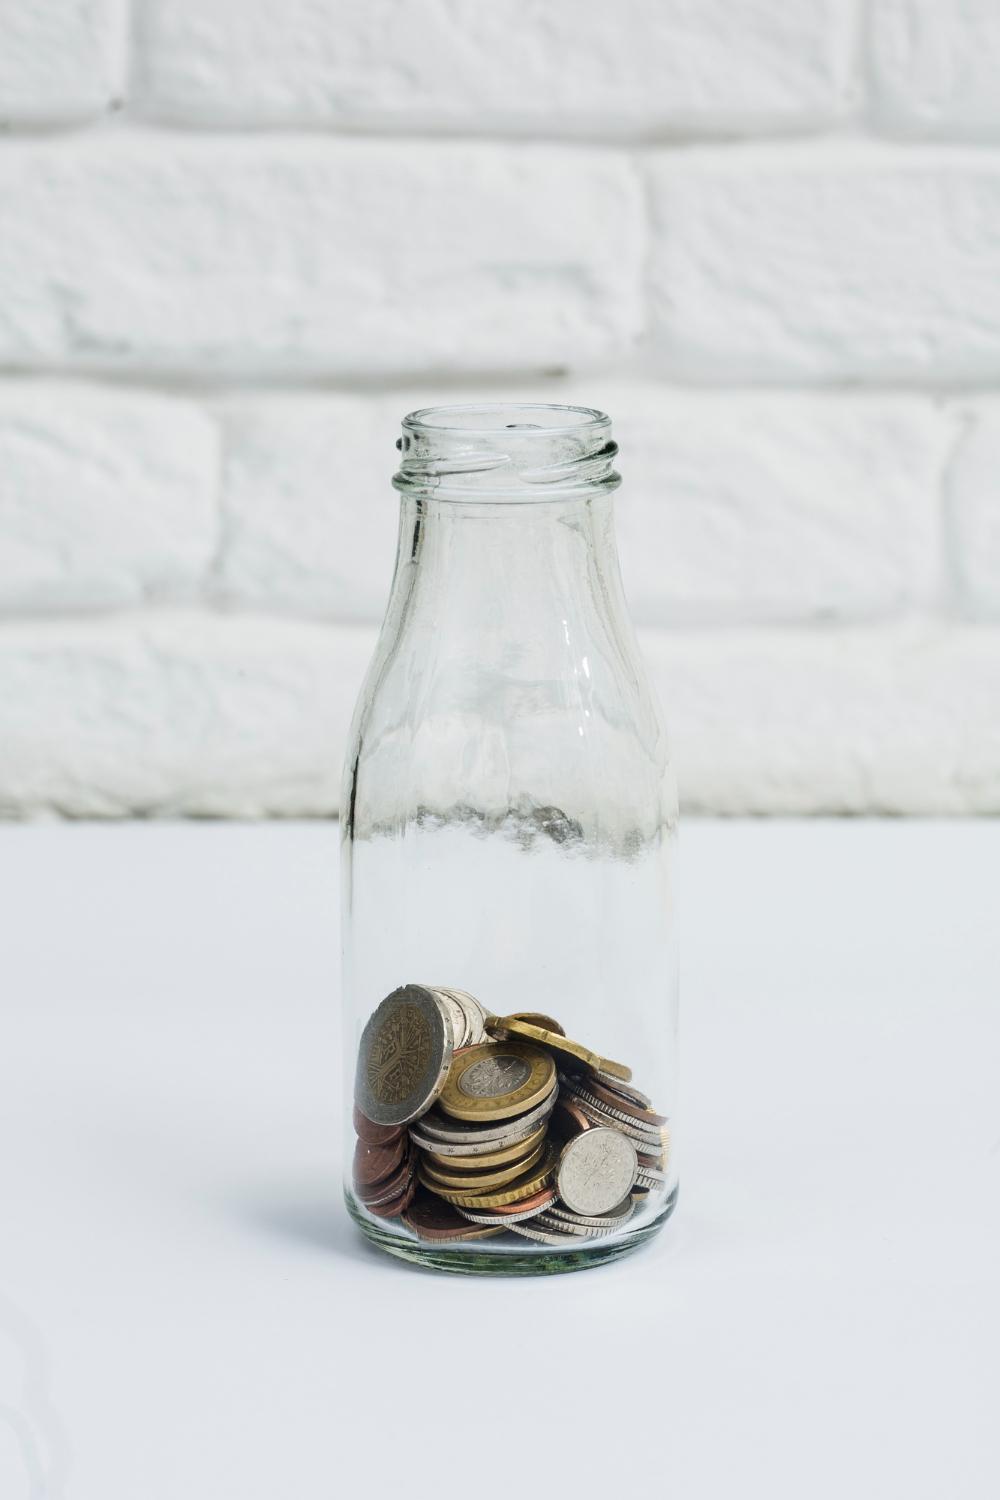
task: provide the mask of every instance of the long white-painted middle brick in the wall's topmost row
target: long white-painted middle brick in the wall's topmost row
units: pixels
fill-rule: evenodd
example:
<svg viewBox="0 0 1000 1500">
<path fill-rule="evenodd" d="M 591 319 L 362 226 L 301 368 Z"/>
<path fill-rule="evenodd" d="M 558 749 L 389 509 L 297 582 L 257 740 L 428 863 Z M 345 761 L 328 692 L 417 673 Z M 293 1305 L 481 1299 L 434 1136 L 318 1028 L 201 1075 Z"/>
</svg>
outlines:
<svg viewBox="0 0 1000 1500">
<path fill-rule="evenodd" d="M 841 0 L 147 0 L 139 105 L 201 124 L 814 128 L 853 98 Z"/>
</svg>

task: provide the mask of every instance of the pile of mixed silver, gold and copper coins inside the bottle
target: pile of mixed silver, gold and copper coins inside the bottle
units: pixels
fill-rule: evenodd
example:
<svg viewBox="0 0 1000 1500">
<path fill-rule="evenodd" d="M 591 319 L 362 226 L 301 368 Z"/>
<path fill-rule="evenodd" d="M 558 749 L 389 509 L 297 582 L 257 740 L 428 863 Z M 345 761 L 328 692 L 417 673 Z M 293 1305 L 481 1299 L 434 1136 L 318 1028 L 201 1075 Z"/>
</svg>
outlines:
<svg viewBox="0 0 1000 1500">
<path fill-rule="evenodd" d="M 550 1016 L 493 1016 L 406 984 L 375 1010 L 355 1077 L 354 1188 L 426 1240 L 613 1234 L 666 1186 L 669 1130 L 631 1070 Z"/>
</svg>

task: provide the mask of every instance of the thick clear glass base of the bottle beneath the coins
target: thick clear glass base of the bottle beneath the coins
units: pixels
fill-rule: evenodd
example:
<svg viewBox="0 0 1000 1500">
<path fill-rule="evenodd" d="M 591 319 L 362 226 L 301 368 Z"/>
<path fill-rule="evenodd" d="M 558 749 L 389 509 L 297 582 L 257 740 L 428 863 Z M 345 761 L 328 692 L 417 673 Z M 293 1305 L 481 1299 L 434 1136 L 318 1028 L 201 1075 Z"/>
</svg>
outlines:
<svg viewBox="0 0 1000 1500">
<path fill-rule="evenodd" d="M 568 1270 L 588 1270 L 591 1266 L 604 1266 L 622 1256 L 631 1256 L 640 1250 L 655 1234 L 673 1214 L 678 1202 L 676 1184 L 664 1198 L 660 1210 L 643 1224 L 624 1228 L 621 1234 L 594 1240 L 591 1245 L 580 1245 L 579 1250 L 543 1248 L 520 1250 L 486 1250 L 484 1242 L 475 1242 L 475 1248 L 465 1250 L 460 1244 L 430 1244 L 427 1240 L 405 1239 L 393 1233 L 382 1222 L 366 1214 L 354 1200 L 351 1192 L 343 1194 L 348 1214 L 361 1230 L 364 1238 L 397 1260 L 406 1260 L 429 1270 L 448 1270 L 459 1276 L 552 1276 Z M 513 1239 L 514 1236 L 505 1236 Z"/>
</svg>

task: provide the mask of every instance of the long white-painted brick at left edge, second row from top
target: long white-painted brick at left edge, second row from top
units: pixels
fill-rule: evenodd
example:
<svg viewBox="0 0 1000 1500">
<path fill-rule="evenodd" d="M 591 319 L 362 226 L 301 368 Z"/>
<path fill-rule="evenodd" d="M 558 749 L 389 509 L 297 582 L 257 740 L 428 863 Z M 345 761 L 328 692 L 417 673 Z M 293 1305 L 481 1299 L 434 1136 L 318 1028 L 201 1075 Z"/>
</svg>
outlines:
<svg viewBox="0 0 1000 1500">
<path fill-rule="evenodd" d="M 0 360 L 219 375 L 529 369 L 622 352 L 642 206 L 600 150 L 12 144 Z"/>
</svg>

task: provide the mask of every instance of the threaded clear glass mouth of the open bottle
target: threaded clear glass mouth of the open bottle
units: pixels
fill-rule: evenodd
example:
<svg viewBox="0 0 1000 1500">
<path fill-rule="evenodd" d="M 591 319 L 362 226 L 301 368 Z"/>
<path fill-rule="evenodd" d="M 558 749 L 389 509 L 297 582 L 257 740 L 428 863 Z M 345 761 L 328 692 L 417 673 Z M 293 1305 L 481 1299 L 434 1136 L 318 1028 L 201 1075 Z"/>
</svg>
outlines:
<svg viewBox="0 0 1000 1500">
<path fill-rule="evenodd" d="M 396 447 L 396 489 L 436 500 L 525 504 L 621 484 L 610 417 L 592 406 L 424 406 L 403 417 Z"/>
</svg>

